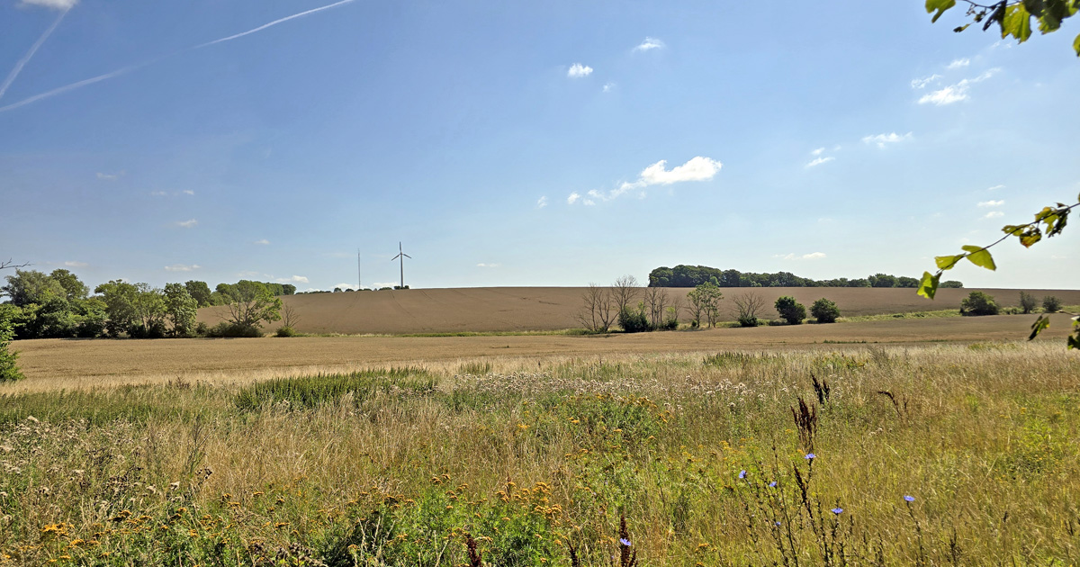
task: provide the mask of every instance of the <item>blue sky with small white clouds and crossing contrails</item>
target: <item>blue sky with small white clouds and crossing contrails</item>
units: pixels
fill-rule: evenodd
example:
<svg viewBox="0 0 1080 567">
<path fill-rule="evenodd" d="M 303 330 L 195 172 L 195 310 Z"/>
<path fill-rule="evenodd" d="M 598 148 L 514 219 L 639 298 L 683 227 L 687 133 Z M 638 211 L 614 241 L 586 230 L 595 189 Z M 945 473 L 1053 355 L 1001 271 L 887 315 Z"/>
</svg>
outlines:
<svg viewBox="0 0 1080 567">
<path fill-rule="evenodd" d="M 393 285 L 399 242 L 411 287 L 919 276 L 1080 193 L 1078 24 L 962 16 L 0 0 L 0 259 L 301 291 Z M 946 279 L 1076 288 L 1072 228 Z"/>
</svg>

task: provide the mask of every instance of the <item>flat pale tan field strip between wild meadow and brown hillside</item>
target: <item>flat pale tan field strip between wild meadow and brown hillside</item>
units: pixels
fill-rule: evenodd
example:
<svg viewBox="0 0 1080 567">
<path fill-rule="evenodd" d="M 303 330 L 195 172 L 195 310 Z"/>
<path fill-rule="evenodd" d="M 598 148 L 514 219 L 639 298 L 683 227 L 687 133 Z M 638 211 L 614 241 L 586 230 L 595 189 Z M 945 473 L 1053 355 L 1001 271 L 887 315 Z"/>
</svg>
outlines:
<svg viewBox="0 0 1080 567">
<path fill-rule="evenodd" d="M 351 294 L 356 295 L 356 294 Z M 847 343 L 918 345 L 1002 341 L 1026 337 L 1036 315 L 890 319 L 831 325 L 762 326 L 635 335 L 510 335 L 472 337 L 294 337 L 261 339 L 45 339 L 14 343 L 27 379 L 15 391 L 186 380 L 249 381 L 268 377 L 352 372 L 388 365 L 456 364 L 463 359 L 531 361 L 613 354 L 716 352 L 724 349 L 813 349 Z M 1066 314 L 1051 316 L 1038 339 L 1063 345 Z"/>
</svg>

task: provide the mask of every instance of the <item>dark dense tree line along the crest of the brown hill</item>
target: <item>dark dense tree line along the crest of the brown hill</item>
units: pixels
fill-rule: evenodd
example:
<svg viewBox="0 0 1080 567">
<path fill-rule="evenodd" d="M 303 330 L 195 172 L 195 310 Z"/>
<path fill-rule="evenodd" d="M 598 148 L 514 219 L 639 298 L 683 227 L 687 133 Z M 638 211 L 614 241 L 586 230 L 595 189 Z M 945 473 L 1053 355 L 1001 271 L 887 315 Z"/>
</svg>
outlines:
<svg viewBox="0 0 1080 567">
<path fill-rule="evenodd" d="M 712 283 L 717 287 L 919 287 L 917 278 L 876 273 L 866 278 L 813 280 L 792 272 L 755 273 L 721 270 L 708 266 L 661 266 L 649 272 L 649 287 L 697 287 Z M 941 287 L 963 287 L 961 282 L 942 282 Z"/>
</svg>

